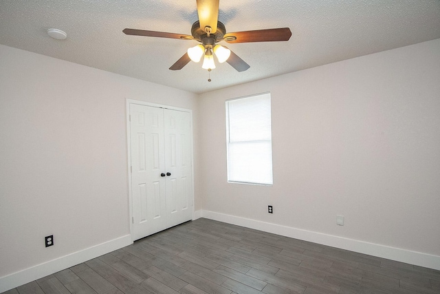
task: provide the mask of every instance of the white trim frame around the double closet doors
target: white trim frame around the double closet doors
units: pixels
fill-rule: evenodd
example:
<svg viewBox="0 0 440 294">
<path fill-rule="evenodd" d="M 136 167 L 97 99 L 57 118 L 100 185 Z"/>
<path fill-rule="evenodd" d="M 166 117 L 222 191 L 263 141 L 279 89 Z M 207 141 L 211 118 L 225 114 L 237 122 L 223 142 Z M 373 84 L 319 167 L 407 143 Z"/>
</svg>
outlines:
<svg viewBox="0 0 440 294">
<path fill-rule="evenodd" d="M 163 109 L 171 109 L 177 110 L 180 112 L 188 112 L 190 114 L 190 134 L 191 134 L 191 146 L 190 146 L 190 154 L 191 154 L 191 185 L 192 185 L 192 203 L 191 203 L 191 218 L 194 219 L 194 139 L 193 139 L 193 129 L 192 129 L 192 109 L 186 109 L 181 107 L 174 107 L 170 105 L 163 105 L 157 103 L 151 103 L 147 101 L 139 101 L 133 99 L 126 99 L 126 146 L 127 146 L 127 174 L 128 174 L 128 186 L 129 186 L 129 224 L 130 224 L 130 235 L 131 242 L 133 242 L 133 193 L 131 187 L 131 129 L 130 129 L 130 105 L 144 105 L 150 107 L 157 107 Z"/>
</svg>

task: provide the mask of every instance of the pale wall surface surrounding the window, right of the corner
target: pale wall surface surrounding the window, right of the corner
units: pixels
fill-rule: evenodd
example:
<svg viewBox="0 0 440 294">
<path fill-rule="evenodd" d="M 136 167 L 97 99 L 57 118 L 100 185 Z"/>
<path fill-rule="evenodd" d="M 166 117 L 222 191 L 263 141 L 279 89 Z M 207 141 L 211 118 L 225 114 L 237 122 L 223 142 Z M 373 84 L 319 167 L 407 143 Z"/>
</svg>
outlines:
<svg viewBox="0 0 440 294">
<path fill-rule="evenodd" d="M 274 185 L 228 184 L 225 100 L 261 92 L 272 94 Z M 202 94 L 199 111 L 204 216 L 440 266 L 440 39 Z"/>
</svg>

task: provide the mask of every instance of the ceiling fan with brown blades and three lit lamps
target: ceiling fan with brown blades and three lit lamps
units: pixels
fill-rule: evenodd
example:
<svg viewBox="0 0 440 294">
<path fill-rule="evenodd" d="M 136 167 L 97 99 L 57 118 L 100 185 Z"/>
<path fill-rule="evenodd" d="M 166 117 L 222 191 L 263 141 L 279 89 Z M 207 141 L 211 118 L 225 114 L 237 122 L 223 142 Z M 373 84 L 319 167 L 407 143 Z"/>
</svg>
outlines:
<svg viewBox="0 0 440 294">
<path fill-rule="evenodd" d="M 238 72 L 248 70 L 250 65 L 245 63 L 243 59 L 229 48 L 217 44 L 218 42 L 249 43 L 288 41 L 290 36 L 292 36 L 292 32 L 290 32 L 289 28 L 226 33 L 225 25 L 218 21 L 219 0 L 197 0 L 197 13 L 199 14 L 199 21 L 192 24 L 191 35 L 130 28 L 126 28 L 122 32 L 134 36 L 156 36 L 160 38 L 199 41 L 200 44 L 189 48 L 184 56 L 181 56 L 178 61 L 171 65 L 170 70 L 181 70 L 190 60 L 199 62 L 201 56 L 204 56 L 202 68 L 210 71 L 215 68 L 213 58 L 213 54 L 215 54 L 219 63 L 226 61 Z"/>
</svg>

